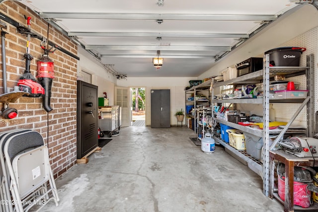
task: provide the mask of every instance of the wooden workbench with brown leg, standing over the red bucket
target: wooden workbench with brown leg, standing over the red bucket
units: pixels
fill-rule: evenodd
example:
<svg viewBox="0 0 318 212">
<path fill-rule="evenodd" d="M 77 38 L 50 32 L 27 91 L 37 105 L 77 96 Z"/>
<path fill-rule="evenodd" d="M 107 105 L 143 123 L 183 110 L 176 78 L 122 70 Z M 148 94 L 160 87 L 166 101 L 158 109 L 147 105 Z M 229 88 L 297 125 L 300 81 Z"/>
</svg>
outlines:
<svg viewBox="0 0 318 212">
<path fill-rule="evenodd" d="M 278 160 L 285 164 L 285 202 L 274 192 L 275 187 L 275 162 Z M 309 208 L 294 206 L 294 166 L 318 166 L 318 157 L 297 157 L 287 154 L 283 150 L 269 151 L 269 197 L 276 198 L 284 204 L 284 212 L 297 211 L 318 211 L 318 203 L 314 202 Z M 274 188 L 275 187 L 275 188 Z"/>
</svg>

